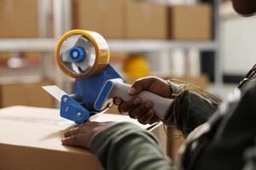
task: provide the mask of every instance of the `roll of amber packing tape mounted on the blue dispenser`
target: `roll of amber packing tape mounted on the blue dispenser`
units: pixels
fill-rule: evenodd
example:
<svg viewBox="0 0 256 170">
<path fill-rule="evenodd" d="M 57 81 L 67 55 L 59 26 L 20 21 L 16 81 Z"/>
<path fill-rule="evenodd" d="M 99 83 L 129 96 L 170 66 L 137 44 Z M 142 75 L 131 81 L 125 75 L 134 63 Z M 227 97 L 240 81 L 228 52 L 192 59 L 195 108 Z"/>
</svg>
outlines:
<svg viewBox="0 0 256 170">
<path fill-rule="evenodd" d="M 95 50 L 96 50 L 96 60 L 94 65 L 90 68 L 89 71 L 82 72 L 80 74 L 75 74 L 73 71 L 69 71 L 62 63 L 61 59 L 61 46 L 62 43 L 70 36 L 78 34 L 86 37 L 87 39 L 92 42 Z M 90 77 L 91 75 L 94 75 L 102 69 L 104 69 L 108 63 L 109 63 L 109 48 L 108 48 L 108 43 L 102 37 L 100 34 L 98 34 L 95 31 L 84 31 L 84 30 L 73 30 L 73 31 L 68 31 L 65 33 L 60 41 L 57 44 L 56 48 L 56 53 L 55 53 L 55 61 L 61 71 L 63 71 L 67 76 L 73 77 L 73 78 L 84 78 L 84 77 Z"/>
</svg>

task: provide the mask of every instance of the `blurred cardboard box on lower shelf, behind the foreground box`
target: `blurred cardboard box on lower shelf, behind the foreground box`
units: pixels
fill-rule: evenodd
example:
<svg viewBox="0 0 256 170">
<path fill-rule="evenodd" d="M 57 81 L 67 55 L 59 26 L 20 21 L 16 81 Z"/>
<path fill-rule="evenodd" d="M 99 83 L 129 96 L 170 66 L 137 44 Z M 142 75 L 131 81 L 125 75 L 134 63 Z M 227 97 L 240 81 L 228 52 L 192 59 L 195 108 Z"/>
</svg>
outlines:
<svg viewBox="0 0 256 170">
<path fill-rule="evenodd" d="M 55 99 L 45 93 L 42 86 L 52 82 L 8 83 L 0 85 L 0 108 L 11 105 L 55 107 Z"/>
</svg>

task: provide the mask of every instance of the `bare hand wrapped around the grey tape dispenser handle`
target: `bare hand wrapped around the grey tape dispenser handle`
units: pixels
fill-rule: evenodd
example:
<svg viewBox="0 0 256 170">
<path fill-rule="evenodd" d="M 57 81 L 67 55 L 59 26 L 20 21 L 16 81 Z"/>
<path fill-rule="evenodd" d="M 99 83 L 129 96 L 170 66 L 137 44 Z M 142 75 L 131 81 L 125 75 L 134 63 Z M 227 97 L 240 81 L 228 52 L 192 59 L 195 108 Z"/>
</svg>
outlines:
<svg viewBox="0 0 256 170">
<path fill-rule="evenodd" d="M 128 112 L 131 118 L 137 119 L 138 122 L 142 124 L 159 122 L 159 117 L 154 114 L 154 110 L 152 109 L 154 105 L 152 101 L 149 99 L 142 101 L 142 99 L 136 97 L 136 95 L 143 90 L 147 90 L 165 98 L 171 97 L 172 95 L 171 88 L 167 81 L 160 79 L 159 77 L 144 77 L 134 82 L 127 92 L 128 94 L 133 95 L 134 98 L 129 101 L 114 98 L 113 104 L 118 105 L 120 113 Z"/>
</svg>

